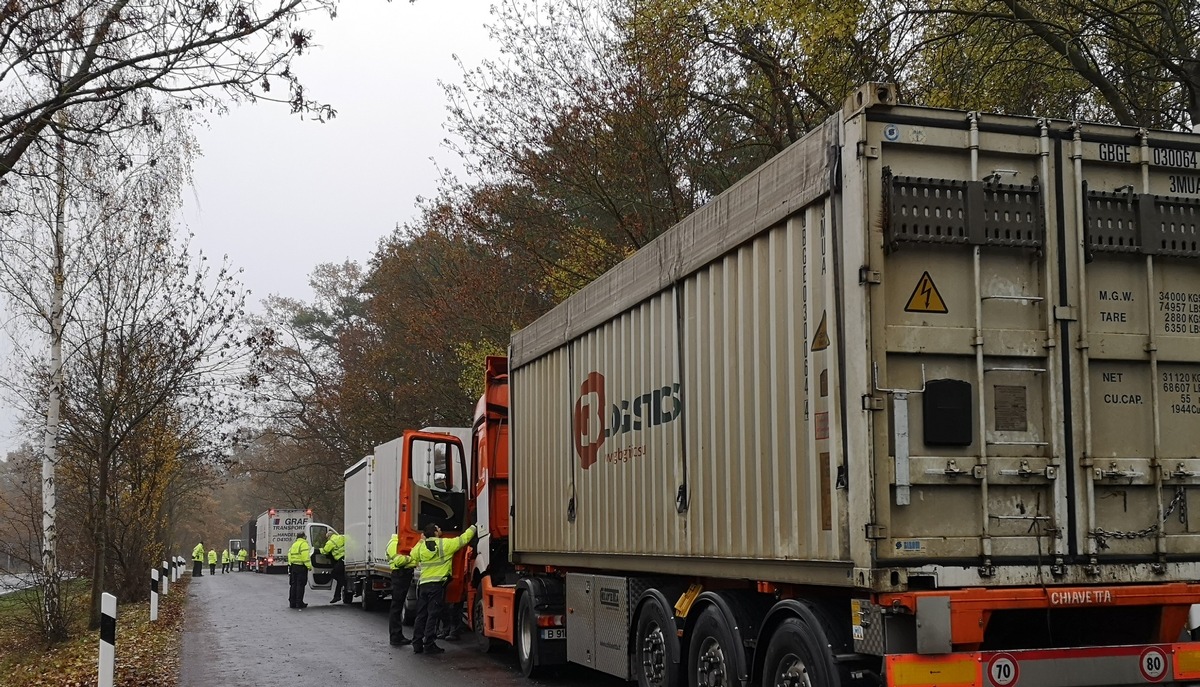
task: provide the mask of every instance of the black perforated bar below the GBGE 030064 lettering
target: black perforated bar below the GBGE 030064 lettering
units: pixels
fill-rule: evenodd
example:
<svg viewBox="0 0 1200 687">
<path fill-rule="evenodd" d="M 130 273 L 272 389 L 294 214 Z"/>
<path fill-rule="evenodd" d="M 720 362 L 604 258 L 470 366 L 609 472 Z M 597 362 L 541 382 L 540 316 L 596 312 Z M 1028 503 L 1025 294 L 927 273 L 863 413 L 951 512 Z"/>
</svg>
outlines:
<svg viewBox="0 0 1200 687">
<path fill-rule="evenodd" d="M 1084 227 L 1094 252 L 1200 257 L 1200 198 L 1086 191 Z"/>
</svg>

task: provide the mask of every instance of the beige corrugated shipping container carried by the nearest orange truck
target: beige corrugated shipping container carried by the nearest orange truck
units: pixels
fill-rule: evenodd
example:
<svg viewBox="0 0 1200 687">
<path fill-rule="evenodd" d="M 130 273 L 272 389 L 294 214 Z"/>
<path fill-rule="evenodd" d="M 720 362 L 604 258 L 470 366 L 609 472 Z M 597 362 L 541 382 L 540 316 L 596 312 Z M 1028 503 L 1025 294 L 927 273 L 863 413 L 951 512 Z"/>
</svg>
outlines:
<svg viewBox="0 0 1200 687">
<path fill-rule="evenodd" d="M 1198 156 L 859 90 L 514 335 L 514 562 L 1200 579 Z"/>
</svg>

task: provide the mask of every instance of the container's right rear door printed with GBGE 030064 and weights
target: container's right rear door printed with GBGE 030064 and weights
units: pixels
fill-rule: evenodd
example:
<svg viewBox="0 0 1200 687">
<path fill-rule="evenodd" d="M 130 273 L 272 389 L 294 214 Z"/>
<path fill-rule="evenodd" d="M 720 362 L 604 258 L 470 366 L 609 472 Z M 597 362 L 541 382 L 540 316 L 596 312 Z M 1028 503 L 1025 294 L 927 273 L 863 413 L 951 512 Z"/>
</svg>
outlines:
<svg viewBox="0 0 1200 687">
<path fill-rule="evenodd" d="M 1079 549 L 1145 575 L 1200 554 L 1200 174 L 1198 137 L 1084 129 Z M 1188 497 L 1192 496 L 1190 513 Z"/>
</svg>

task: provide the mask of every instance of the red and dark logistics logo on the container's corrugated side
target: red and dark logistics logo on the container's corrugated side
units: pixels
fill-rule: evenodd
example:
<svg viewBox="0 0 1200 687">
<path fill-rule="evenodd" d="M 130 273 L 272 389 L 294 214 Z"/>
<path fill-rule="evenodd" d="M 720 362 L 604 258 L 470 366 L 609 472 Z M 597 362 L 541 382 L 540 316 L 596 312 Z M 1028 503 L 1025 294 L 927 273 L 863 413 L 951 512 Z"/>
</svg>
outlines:
<svg viewBox="0 0 1200 687">
<path fill-rule="evenodd" d="M 580 456 L 580 465 L 583 470 L 595 465 L 608 437 L 666 424 L 678 418 L 682 411 L 679 384 L 661 387 L 610 406 L 604 375 L 588 374 L 575 400 L 575 453 Z"/>
</svg>

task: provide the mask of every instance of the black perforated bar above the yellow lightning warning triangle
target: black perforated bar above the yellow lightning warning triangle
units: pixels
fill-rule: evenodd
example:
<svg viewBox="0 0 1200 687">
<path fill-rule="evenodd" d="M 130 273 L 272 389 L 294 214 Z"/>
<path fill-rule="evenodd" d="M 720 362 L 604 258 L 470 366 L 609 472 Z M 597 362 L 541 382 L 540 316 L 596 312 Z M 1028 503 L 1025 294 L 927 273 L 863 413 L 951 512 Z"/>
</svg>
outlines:
<svg viewBox="0 0 1200 687">
<path fill-rule="evenodd" d="M 1040 249 L 1042 186 L 893 175 L 883 171 L 888 250 L 902 244 Z"/>
</svg>

